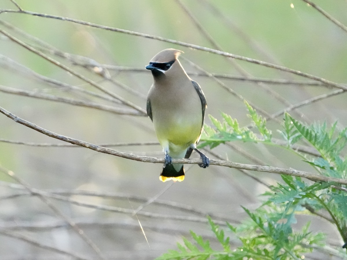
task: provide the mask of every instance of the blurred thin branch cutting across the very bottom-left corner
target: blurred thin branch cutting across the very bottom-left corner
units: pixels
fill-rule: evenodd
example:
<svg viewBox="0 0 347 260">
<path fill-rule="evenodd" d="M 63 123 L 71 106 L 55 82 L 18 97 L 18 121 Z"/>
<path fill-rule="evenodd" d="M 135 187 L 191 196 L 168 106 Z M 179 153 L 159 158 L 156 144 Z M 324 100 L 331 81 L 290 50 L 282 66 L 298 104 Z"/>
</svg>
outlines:
<svg viewBox="0 0 347 260">
<path fill-rule="evenodd" d="M 39 248 L 43 248 L 43 249 L 49 250 L 51 252 L 68 255 L 69 257 L 73 257 L 73 258 L 76 258 L 76 259 L 79 259 L 79 260 L 91 260 L 91 258 L 86 258 L 86 257 L 84 257 L 82 255 L 78 255 L 78 254 L 76 254 L 74 252 L 68 252 L 68 251 L 65 251 L 65 250 L 62 250 L 62 249 L 55 248 L 55 247 L 50 246 L 50 245 L 42 244 L 41 242 L 39 242 L 39 241 L 37 241 L 37 240 L 35 240 L 35 239 L 31 238 L 31 237 L 25 236 L 23 234 L 19 234 L 17 232 L 11 232 L 11 231 L 8 231 L 8 230 L 1 230 L 0 229 L 0 234 L 4 235 L 4 236 L 9 236 L 9 237 L 12 237 L 12 238 L 16 238 L 16 239 L 25 241 L 25 242 L 27 242 L 29 244 L 35 245 L 35 246 L 37 246 Z"/>
</svg>

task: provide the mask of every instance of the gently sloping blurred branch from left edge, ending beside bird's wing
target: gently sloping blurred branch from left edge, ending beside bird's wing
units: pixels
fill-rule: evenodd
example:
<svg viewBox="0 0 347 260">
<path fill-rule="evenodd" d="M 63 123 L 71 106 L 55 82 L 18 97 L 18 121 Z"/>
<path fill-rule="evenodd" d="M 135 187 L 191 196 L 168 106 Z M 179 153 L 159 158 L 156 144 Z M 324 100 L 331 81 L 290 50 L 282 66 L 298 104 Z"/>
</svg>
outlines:
<svg viewBox="0 0 347 260">
<path fill-rule="evenodd" d="M 113 114 L 118 114 L 118 115 L 144 116 L 142 112 L 139 112 L 138 110 L 135 110 L 135 109 L 117 108 L 117 107 L 112 107 L 112 106 L 99 104 L 99 103 L 95 103 L 91 101 L 84 101 L 84 100 L 78 100 L 78 99 L 67 98 L 67 97 L 59 97 L 56 95 L 40 93 L 37 91 L 15 89 L 13 87 L 7 87 L 2 85 L 0 85 L 0 91 L 4 93 L 14 94 L 14 95 L 21 95 L 25 97 L 66 103 L 73 106 L 94 108 L 94 109 L 107 111 L 107 112 L 111 112 Z"/>
</svg>

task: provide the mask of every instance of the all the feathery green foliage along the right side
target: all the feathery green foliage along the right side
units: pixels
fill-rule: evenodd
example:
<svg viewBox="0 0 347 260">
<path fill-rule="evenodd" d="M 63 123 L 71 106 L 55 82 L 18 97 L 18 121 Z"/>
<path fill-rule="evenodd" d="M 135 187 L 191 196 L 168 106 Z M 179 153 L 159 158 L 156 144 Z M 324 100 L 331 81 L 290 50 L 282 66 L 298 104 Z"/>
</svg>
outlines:
<svg viewBox="0 0 347 260">
<path fill-rule="evenodd" d="M 266 120 L 247 102 L 245 104 L 248 117 L 259 134 L 247 127 L 240 127 L 236 119 L 222 113 L 223 121 L 210 116 L 214 127 L 205 127 L 202 146 L 214 148 L 225 142 L 239 140 L 276 145 L 272 143 L 272 134 L 266 128 Z M 278 132 L 287 143 L 285 149 L 292 149 L 295 143 L 307 140 L 320 156 L 301 155 L 300 158 L 305 158 L 304 161 L 320 174 L 346 178 L 347 159 L 342 153 L 346 151 L 347 128 L 339 131 L 337 123 L 328 127 L 325 122 L 306 125 L 285 113 L 283 128 Z M 178 243 L 178 250 L 169 250 L 157 259 L 303 259 L 315 247 L 326 248 L 325 235 L 310 232 L 309 221 L 302 227 L 297 226 L 297 214 L 307 215 L 309 218 L 316 212 L 320 216 L 326 216 L 325 220 L 335 225 L 342 240 L 347 241 L 345 186 L 332 182 L 312 183 L 287 175 L 281 177 L 283 182 L 271 186 L 270 191 L 264 193 L 266 200 L 258 209 L 251 212 L 243 207 L 249 218 L 242 224 L 233 226 L 227 223 L 228 228 L 221 229 L 209 218 L 212 232 L 221 249 L 211 248 L 209 241 L 191 231 L 194 242 L 183 238 L 183 243 Z M 226 236 L 227 232 L 229 236 Z M 342 247 L 330 249 L 329 253 L 331 252 L 339 259 L 347 259 L 346 250 Z"/>
</svg>

